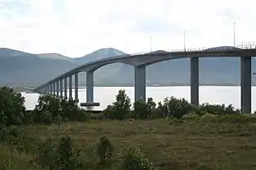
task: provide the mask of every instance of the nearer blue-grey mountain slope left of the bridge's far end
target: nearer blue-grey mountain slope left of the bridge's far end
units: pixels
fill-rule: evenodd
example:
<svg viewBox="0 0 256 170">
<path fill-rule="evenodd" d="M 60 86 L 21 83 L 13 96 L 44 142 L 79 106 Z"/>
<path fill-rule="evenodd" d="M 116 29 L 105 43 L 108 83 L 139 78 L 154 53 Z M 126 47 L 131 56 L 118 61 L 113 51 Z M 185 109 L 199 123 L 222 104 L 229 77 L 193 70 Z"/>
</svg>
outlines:
<svg viewBox="0 0 256 170">
<path fill-rule="evenodd" d="M 0 84 L 36 87 L 77 65 L 65 59 L 43 59 L 38 55 L 0 48 Z"/>
</svg>

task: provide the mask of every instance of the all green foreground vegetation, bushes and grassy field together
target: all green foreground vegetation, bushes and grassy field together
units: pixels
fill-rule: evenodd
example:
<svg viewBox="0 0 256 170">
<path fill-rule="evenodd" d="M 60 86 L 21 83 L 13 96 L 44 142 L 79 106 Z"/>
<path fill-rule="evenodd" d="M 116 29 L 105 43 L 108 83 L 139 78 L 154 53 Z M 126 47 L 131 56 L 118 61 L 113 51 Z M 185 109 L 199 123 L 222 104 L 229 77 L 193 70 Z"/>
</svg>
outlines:
<svg viewBox="0 0 256 170">
<path fill-rule="evenodd" d="M 116 100 L 96 116 L 73 100 L 41 95 L 35 110 L 25 111 L 20 93 L 1 88 L 1 169 L 256 167 L 253 115 L 174 97 L 157 107 L 152 98 L 132 104 L 125 91 Z"/>
</svg>

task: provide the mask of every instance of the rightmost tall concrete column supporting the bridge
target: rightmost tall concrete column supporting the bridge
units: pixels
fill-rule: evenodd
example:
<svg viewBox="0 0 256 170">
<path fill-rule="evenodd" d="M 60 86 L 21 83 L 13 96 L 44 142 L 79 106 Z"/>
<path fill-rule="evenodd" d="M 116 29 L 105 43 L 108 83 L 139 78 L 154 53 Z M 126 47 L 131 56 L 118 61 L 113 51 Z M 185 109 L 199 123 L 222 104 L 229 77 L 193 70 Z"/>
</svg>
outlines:
<svg viewBox="0 0 256 170">
<path fill-rule="evenodd" d="M 241 112 L 251 113 L 251 57 L 241 57 Z"/>
</svg>

